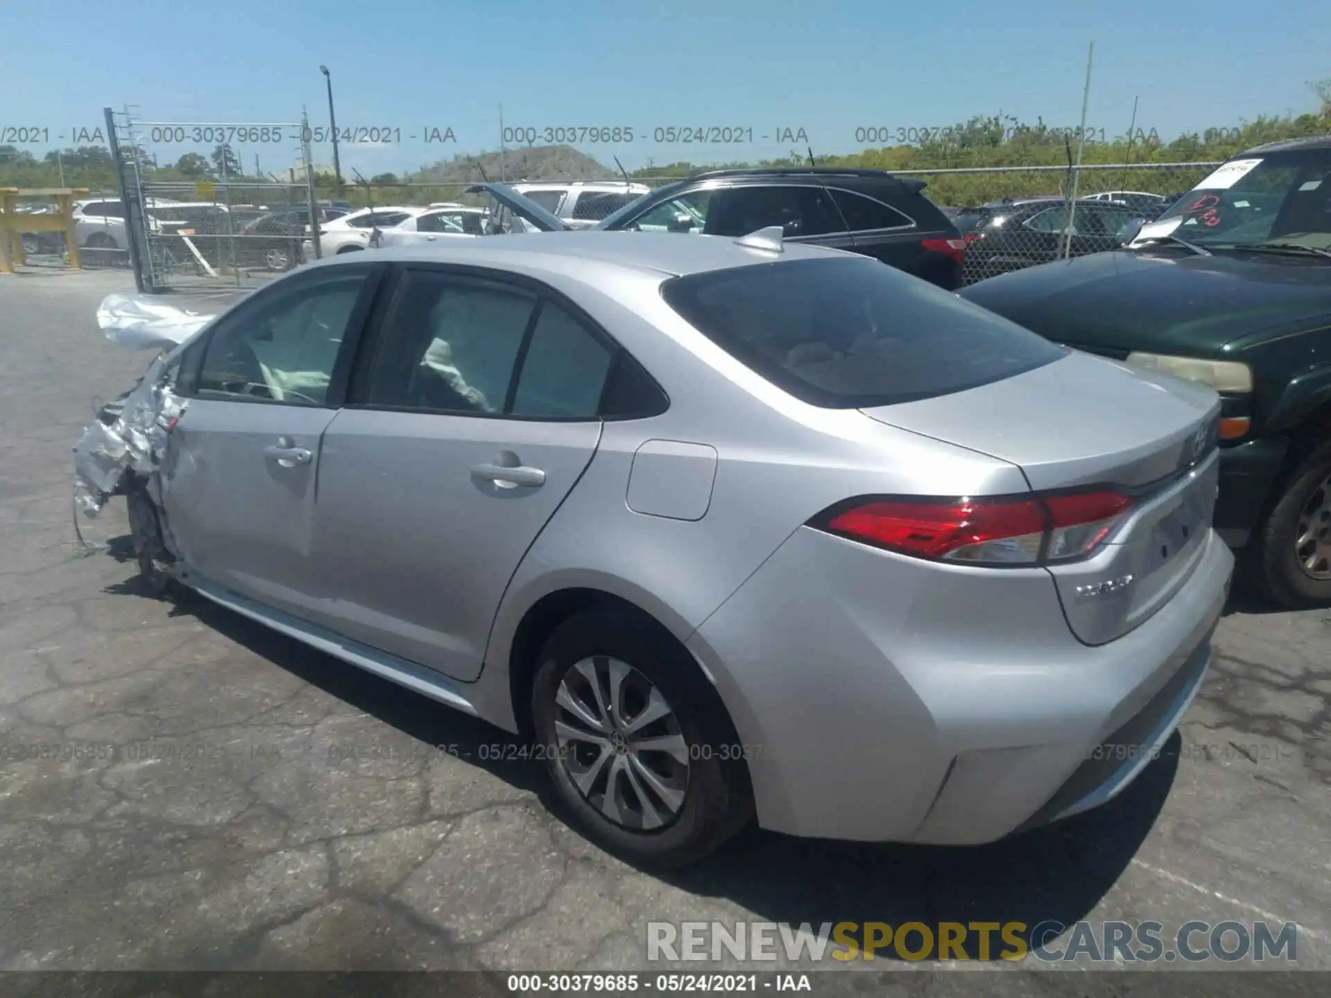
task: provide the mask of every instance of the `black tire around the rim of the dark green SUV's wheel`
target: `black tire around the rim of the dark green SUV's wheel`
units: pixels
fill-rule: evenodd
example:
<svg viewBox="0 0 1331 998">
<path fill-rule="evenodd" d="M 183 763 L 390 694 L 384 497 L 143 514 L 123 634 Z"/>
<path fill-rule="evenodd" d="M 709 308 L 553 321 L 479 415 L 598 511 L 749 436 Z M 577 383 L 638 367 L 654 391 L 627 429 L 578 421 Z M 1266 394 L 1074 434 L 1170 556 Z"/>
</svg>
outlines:
<svg viewBox="0 0 1331 998">
<path fill-rule="evenodd" d="M 1262 595 L 1284 607 L 1304 608 L 1331 604 L 1331 579 L 1308 575 L 1298 558 L 1300 515 L 1331 491 L 1331 442 L 1315 447 L 1286 479 L 1266 523 L 1254 538 L 1251 559 Z M 1331 520 L 1326 522 L 1331 531 Z M 1327 535 L 1331 538 L 1331 534 Z"/>
</svg>

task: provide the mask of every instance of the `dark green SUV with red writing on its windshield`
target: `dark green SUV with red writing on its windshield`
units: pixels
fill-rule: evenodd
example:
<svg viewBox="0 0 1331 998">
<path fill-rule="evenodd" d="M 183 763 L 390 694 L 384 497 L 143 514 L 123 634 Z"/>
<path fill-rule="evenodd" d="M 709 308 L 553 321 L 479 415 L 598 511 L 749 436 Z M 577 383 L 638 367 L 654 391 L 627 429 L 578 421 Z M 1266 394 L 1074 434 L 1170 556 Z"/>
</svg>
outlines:
<svg viewBox="0 0 1331 998">
<path fill-rule="evenodd" d="M 1215 387 L 1215 528 L 1243 550 L 1236 579 L 1284 605 L 1331 603 L 1331 137 L 1251 149 L 1135 228 L 1118 250 L 961 295 Z"/>
</svg>

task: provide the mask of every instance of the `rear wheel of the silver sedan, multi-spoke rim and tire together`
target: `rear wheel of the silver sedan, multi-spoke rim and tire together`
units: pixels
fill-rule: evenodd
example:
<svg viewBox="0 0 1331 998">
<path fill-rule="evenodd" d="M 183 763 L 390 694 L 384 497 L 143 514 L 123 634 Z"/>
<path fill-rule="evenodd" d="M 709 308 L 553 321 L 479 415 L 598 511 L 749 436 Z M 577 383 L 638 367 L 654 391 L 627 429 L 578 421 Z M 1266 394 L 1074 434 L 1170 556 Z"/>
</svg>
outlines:
<svg viewBox="0 0 1331 998">
<path fill-rule="evenodd" d="M 695 862 L 752 804 L 720 697 L 668 635 L 587 611 L 542 649 L 532 724 L 555 793 L 588 838 L 627 860 Z"/>
</svg>

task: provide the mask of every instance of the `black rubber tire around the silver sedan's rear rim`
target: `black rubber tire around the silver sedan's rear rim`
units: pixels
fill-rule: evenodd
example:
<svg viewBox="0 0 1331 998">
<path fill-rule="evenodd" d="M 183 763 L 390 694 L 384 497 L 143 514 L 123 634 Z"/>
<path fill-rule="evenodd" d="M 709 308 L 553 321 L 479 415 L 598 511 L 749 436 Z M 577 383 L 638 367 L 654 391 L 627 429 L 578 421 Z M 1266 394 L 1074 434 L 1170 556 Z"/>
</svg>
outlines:
<svg viewBox="0 0 1331 998">
<path fill-rule="evenodd" d="M 567 712 L 555 697 L 574 665 L 594 656 L 632 667 L 673 708 L 677 733 L 688 745 L 687 785 L 683 804 L 662 828 L 643 830 L 611 821 L 583 796 L 566 765 L 555 720 Z M 743 761 L 732 758 L 740 753 L 725 708 L 664 628 L 626 611 L 584 611 L 555 628 L 538 661 L 531 691 L 535 740 L 559 805 L 590 840 L 630 862 L 684 866 L 717 849 L 752 817 L 748 773 Z"/>
</svg>

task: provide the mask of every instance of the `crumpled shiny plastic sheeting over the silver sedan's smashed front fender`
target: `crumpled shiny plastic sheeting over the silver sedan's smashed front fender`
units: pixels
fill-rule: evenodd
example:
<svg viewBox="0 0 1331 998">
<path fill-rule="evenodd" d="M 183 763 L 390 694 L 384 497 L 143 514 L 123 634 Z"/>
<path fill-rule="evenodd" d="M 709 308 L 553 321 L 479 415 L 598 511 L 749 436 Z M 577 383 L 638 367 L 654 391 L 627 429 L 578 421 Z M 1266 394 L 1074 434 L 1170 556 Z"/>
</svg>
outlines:
<svg viewBox="0 0 1331 998">
<path fill-rule="evenodd" d="M 166 434 L 185 411 L 170 382 L 165 357 L 158 357 L 117 419 L 110 426 L 95 419 L 75 444 L 75 504 L 85 516 L 101 512 L 125 471 L 150 475 L 160 466 Z"/>
</svg>

